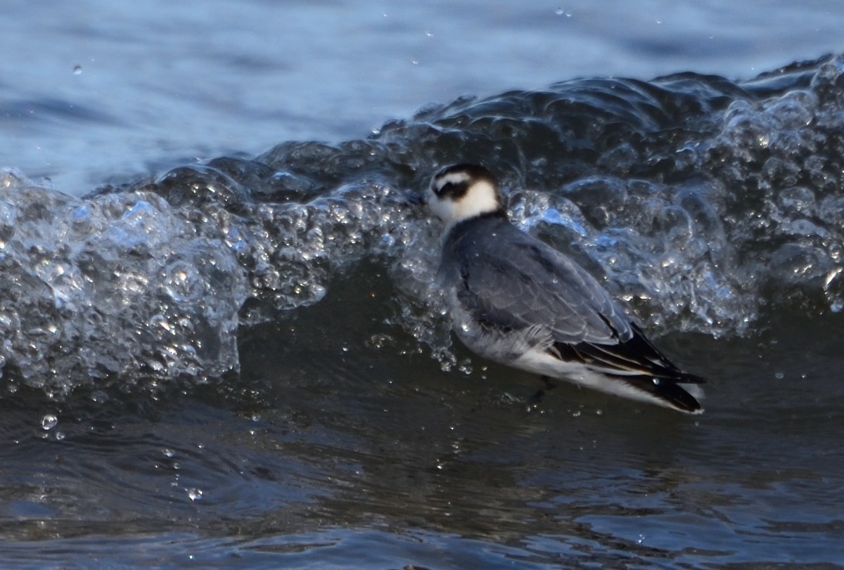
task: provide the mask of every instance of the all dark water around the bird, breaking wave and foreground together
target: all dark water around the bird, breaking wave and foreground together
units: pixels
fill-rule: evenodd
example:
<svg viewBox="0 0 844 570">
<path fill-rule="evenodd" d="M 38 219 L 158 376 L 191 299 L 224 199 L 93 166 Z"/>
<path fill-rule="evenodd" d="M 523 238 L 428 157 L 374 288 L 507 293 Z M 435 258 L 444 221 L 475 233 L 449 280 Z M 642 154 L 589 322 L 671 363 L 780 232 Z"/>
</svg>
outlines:
<svg viewBox="0 0 844 570">
<path fill-rule="evenodd" d="M 4 566 L 844 566 L 841 56 L 375 130 L 84 197 L 3 173 Z M 535 401 L 452 342 L 408 197 L 457 160 L 711 379 L 703 416 Z"/>
</svg>

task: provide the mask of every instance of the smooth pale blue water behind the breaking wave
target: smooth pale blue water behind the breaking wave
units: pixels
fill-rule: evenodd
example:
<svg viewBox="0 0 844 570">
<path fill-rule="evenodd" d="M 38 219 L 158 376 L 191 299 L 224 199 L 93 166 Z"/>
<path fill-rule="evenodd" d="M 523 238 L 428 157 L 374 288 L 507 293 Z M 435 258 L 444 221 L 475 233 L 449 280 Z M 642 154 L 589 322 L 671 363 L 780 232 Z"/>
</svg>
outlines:
<svg viewBox="0 0 844 570">
<path fill-rule="evenodd" d="M 0 163 L 76 196 L 282 141 L 357 139 L 462 94 L 751 78 L 841 51 L 844 19 L 836 0 L 43 6 L 3 3 Z"/>
</svg>

